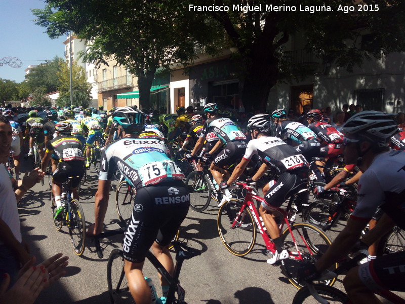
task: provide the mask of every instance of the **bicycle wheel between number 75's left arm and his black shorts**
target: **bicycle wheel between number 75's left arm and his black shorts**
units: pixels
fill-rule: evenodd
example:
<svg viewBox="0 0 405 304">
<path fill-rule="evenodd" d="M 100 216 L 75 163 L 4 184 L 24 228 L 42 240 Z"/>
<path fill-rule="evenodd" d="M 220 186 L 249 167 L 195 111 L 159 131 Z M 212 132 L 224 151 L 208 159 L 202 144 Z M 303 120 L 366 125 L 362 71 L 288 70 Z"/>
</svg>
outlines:
<svg viewBox="0 0 405 304">
<path fill-rule="evenodd" d="M 133 187 L 129 188 L 127 181 L 121 181 L 115 191 L 115 209 L 118 218 L 121 221 L 127 221 L 131 218 L 134 208 L 136 192 Z"/>
</svg>

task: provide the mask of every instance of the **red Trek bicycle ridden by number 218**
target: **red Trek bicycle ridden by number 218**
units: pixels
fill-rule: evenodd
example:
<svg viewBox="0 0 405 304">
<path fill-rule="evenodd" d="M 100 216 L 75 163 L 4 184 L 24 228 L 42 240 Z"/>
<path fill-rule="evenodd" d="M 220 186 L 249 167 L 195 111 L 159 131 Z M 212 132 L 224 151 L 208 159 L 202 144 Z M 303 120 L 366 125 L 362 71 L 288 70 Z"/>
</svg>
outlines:
<svg viewBox="0 0 405 304">
<path fill-rule="evenodd" d="M 259 230 L 267 252 L 275 254 L 275 245 L 270 241 L 253 202 L 253 200 L 261 202 L 263 198 L 259 197 L 254 188 L 246 182 L 236 182 L 236 185 L 230 188 L 233 187 L 245 189 L 247 193 L 243 201 L 231 199 L 225 202 L 219 209 L 218 233 L 225 248 L 237 256 L 248 254 L 256 243 L 256 230 Z M 293 207 L 293 204 L 297 196 L 304 191 L 307 191 L 307 189 L 303 189 L 290 197 L 286 211 L 276 208 L 281 214 L 280 232 L 284 225 L 287 225 L 287 228 L 282 231 L 281 237 L 284 248 L 288 250 L 290 255 L 289 258 L 280 260 L 281 270 L 296 288 L 302 287 L 295 275 L 299 263 L 301 261 L 316 261 L 331 245 L 328 236 L 316 226 L 309 223 L 294 222 L 297 209 Z M 336 268 L 337 263 L 334 264 L 332 269 Z M 325 283 L 332 286 L 335 283 L 335 279 L 326 281 Z"/>
</svg>

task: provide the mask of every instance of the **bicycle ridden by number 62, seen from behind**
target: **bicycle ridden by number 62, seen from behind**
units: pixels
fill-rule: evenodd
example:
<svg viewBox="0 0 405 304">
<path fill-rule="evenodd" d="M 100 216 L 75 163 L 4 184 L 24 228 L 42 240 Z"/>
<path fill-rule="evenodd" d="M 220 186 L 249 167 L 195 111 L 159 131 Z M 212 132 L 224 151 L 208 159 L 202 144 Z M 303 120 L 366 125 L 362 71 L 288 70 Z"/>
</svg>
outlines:
<svg viewBox="0 0 405 304">
<path fill-rule="evenodd" d="M 78 176 L 75 176 L 78 177 Z M 82 255 L 85 251 L 85 236 L 86 236 L 86 220 L 80 203 L 72 198 L 70 185 L 73 176 L 68 177 L 67 181 L 62 184 L 62 193 L 66 193 L 66 198 L 62 198 L 62 216 L 61 219 L 55 219 L 56 203 L 51 192 L 52 200 L 52 218 L 57 231 L 62 229 L 62 226 L 67 226 L 70 236 L 70 241 L 74 252 L 77 255 Z"/>
</svg>

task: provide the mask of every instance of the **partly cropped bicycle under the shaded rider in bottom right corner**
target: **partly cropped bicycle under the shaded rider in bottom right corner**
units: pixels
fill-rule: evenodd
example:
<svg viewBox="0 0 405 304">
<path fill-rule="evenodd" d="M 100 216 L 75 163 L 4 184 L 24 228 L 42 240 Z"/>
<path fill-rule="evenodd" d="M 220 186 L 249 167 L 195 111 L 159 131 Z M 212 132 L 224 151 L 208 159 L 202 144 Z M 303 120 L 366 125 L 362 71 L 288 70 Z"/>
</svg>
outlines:
<svg viewBox="0 0 405 304">
<path fill-rule="evenodd" d="M 337 268 L 333 272 L 329 272 L 326 275 L 322 276 L 323 278 L 331 278 L 337 277 L 338 275 L 346 272 L 347 270 L 356 267 L 357 262 L 360 261 L 362 258 L 366 257 L 368 253 L 360 253 L 353 257 L 352 259 L 348 259 L 340 264 L 339 268 Z M 321 278 L 322 279 L 322 278 Z M 389 290 L 382 290 L 376 289 L 373 292 L 392 303 L 397 304 L 405 304 L 405 300 L 396 295 L 395 293 Z M 320 285 L 320 284 L 313 284 L 307 283 L 306 286 L 298 290 L 296 295 L 294 296 L 292 304 L 303 304 L 303 303 L 321 303 L 321 304 L 329 304 L 329 303 L 343 303 L 343 304 L 350 304 L 352 301 L 349 299 L 346 293 L 337 289 L 332 286 Z"/>
</svg>

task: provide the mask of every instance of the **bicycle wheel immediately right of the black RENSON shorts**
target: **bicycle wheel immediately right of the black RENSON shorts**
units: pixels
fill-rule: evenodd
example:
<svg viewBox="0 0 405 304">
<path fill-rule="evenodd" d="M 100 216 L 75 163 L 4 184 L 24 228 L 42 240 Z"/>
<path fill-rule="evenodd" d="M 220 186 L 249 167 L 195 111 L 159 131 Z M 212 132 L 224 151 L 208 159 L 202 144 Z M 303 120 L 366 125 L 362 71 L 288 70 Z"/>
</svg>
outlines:
<svg viewBox="0 0 405 304">
<path fill-rule="evenodd" d="M 203 212 L 211 202 L 210 182 L 203 171 L 194 170 L 188 174 L 185 184 L 190 192 L 190 207 L 194 211 Z"/>
</svg>

